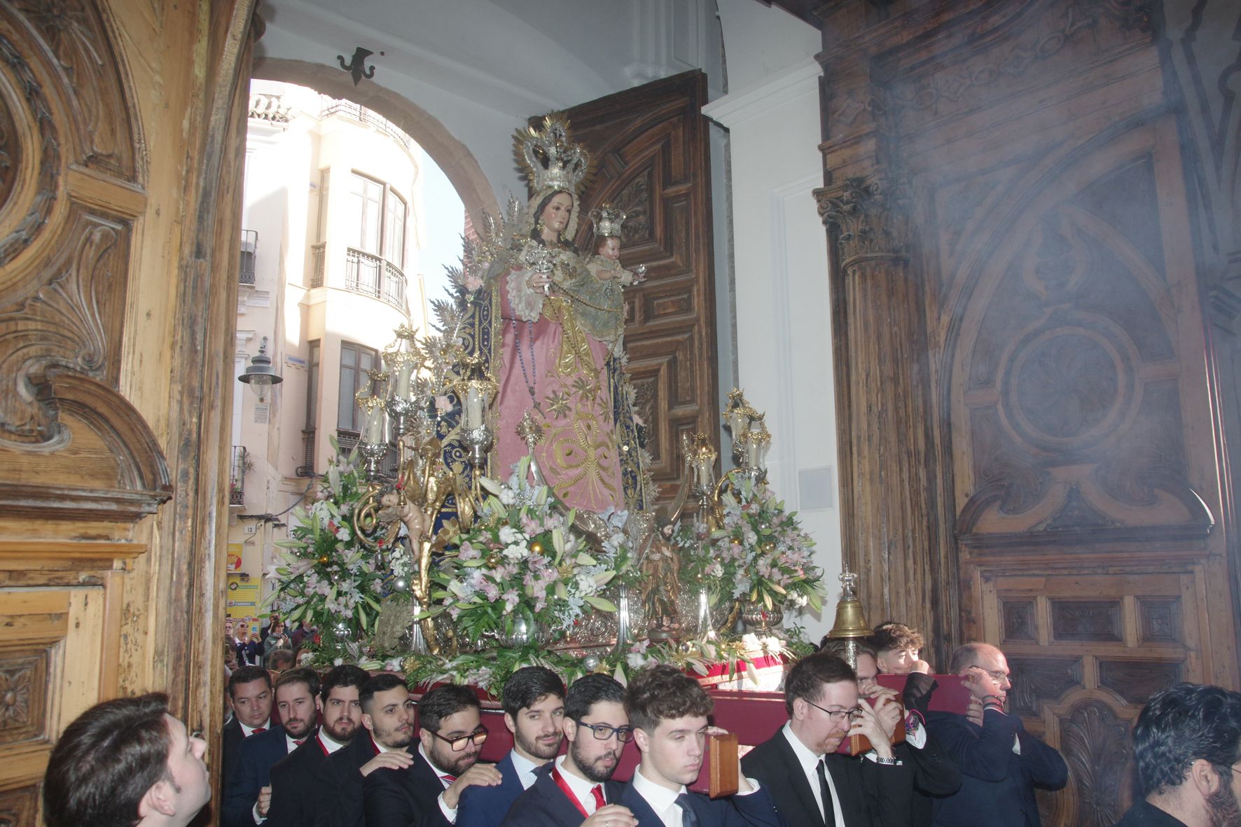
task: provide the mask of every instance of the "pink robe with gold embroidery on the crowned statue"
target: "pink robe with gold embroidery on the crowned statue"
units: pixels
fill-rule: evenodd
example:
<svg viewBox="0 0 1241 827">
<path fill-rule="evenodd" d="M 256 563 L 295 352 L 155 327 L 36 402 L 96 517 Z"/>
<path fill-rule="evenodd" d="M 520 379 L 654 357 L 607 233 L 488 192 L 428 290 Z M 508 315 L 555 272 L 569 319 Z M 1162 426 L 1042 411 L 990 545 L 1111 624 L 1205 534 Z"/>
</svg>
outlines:
<svg viewBox="0 0 1241 827">
<path fill-rule="evenodd" d="M 572 253 L 562 253 L 572 256 Z M 576 256 L 575 256 L 576 258 Z M 526 454 L 517 422 L 526 410 L 542 426 L 535 458 L 556 494 L 571 508 L 623 509 L 624 488 L 604 370 L 608 348 L 591 338 L 572 303 L 524 284 L 525 271 L 506 274 L 500 293 L 499 411 L 500 476 Z M 514 309 L 517 297 L 521 312 Z M 536 322 L 531 318 L 541 303 Z"/>
</svg>

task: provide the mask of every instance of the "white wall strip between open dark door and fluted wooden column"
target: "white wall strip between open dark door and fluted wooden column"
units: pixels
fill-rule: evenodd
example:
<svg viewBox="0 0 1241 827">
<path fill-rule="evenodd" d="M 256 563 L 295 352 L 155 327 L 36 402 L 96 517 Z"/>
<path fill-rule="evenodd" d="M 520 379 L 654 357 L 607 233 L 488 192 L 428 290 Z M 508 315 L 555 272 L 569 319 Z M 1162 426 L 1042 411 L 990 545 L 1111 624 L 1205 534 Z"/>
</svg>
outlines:
<svg viewBox="0 0 1241 827">
<path fill-rule="evenodd" d="M 730 134 L 738 382 L 751 405 L 767 412 L 768 479 L 818 544 L 830 599 L 820 616 L 792 618 L 818 641 L 834 620 L 841 561 L 827 240 L 812 196 L 823 183 L 818 37 L 753 0 L 720 0 L 720 6 L 730 94 L 704 112 Z M 736 30 L 731 6 L 737 6 Z M 784 15 L 812 36 L 792 41 L 800 42 L 802 55 L 787 66 L 741 63 L 752 82 L 738 86 L 733 55 L 742 50 L 730 47 L 730 32 L 745 42 L 755 36 L 755 19 L 768 14 Z M 764 31 L 791 42 L 782 29 Z M 795 50 L 784 55 L 795 57 Z"/>
</svg>

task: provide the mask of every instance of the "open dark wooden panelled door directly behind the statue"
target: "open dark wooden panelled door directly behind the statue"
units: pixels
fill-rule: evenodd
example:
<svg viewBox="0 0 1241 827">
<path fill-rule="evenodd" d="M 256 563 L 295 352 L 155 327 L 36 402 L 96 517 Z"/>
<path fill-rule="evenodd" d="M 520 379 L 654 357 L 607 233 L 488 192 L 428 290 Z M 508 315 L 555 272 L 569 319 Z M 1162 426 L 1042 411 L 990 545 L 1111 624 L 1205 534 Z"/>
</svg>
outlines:
<svg viewBox="0 0 1241 827">
<path fill-rule="evenodd" d="M 594 159 L 582 206 L 625 210 L 620 261 L 648 268 L 648 281 L 625 291 L 624 338 L 659 502 L 680 482 L 681 435 L 717 441 L 720 432 L 704 103 L 706 76 L 686 72 L 566 112 Z M 589 221 L 578 224 L 580 248 L 591 232 Z"/>
</svg>

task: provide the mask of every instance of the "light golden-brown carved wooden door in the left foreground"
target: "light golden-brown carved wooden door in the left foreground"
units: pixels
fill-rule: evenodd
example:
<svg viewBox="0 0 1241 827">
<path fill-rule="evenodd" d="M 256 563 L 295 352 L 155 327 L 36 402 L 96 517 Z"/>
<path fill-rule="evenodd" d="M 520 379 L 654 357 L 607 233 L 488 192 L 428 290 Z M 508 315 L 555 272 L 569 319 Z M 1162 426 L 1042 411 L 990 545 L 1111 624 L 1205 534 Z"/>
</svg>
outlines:
<svg viewBox="0 0 1241 827">
<path fill-rule="evenodd" d="M 210 5 L 0 1 L 2 825 L 41 823 L 52 744 L 98 700 L 160 690 L 220 728 L 211 354 L 253 4 Z"/>
</svg>

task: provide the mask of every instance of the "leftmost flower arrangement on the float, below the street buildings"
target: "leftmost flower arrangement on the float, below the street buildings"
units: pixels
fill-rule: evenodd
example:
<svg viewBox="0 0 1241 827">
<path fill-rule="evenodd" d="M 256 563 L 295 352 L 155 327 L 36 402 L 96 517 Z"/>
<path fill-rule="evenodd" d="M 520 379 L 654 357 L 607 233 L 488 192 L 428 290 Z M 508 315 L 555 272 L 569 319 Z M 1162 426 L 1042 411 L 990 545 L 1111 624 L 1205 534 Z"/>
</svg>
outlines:
<svg viewBox="0 0 1241 827">
<path fill-rule="evenodd" d="M 290 539 L 276 543 L 283 551 L 267 570 L 273 589 L 263 608 L 288 622 L 316 625 L 343 646 L 375 627 L 387 584 L 408 577 L 413 561 L 401 545 L 376 553 L 355 536 L 364 476 L 355 453 L 341 458 L 335 440 L 333 448 L 336 456 L 314 503 L 293 510 Z"/>
</svg>

